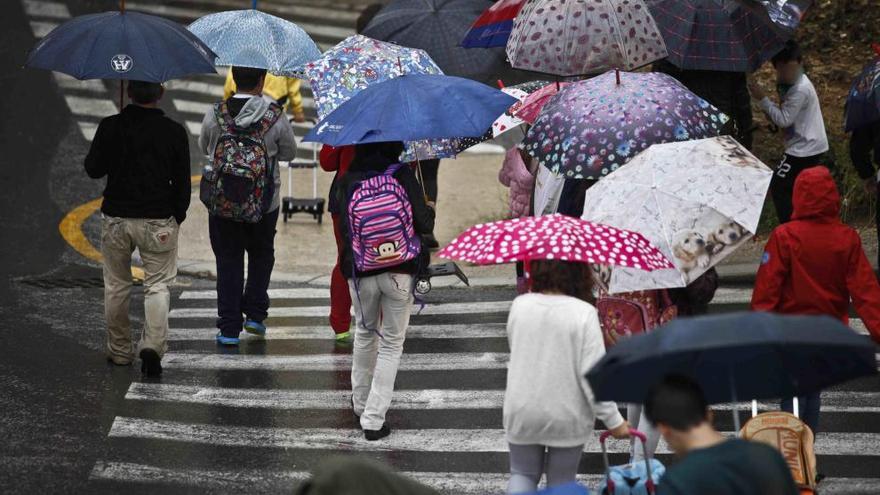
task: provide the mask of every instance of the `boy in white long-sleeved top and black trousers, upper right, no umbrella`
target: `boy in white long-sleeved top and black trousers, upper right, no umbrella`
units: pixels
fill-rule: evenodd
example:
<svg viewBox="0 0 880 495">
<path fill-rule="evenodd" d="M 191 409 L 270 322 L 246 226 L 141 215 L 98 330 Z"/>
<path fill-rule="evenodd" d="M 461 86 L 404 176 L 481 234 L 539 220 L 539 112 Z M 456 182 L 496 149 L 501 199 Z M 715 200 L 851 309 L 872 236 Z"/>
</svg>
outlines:
<svg viewBox="0 0 880 495">
<path fill-rule="evenodd" d="M 761 110 L 773 124 L 783 129 L 785 136 L 785 156 L 776 167 L 770 183 L 770 195 L 779 223 L 786 223 L 791 219 L 791 195 L 798 174 L 810 167 L 829 165 L 825 156 L 828 136 L 819 96 L 810 78 L 804 74 L 803 54 L 797 42 L 792 40 L 786 43 L 772 62 L 779 83 L 781 105 L 768 98 L 754 82 L 749 89 Z"/>
</svg>

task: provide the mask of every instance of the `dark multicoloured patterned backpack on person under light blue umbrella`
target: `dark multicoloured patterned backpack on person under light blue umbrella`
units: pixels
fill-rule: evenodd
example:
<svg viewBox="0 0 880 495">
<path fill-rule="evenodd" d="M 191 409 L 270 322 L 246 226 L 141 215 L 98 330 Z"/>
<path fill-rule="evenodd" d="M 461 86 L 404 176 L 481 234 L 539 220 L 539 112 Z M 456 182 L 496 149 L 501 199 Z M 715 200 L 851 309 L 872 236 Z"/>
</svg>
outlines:
<svg viewBox="0 0 880 495">
<path fill-rule="evenodd" d="M 257 223 L 275 191 L 272 159 L 264 137 L 284 110 L 272 103 L 259 121 L 238 128 L 225 101 L 214 105 L 220 138 L 212 164 L 205 167 L 199 198 L 211 215 L 236 222 Z"/>
</svg>

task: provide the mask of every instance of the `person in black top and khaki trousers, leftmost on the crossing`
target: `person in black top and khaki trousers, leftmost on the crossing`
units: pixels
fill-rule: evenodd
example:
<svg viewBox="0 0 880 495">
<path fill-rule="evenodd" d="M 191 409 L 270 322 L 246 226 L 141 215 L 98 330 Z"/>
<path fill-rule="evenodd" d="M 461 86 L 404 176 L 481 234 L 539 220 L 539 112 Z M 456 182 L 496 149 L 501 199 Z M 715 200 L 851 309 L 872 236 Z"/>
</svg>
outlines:
<svg viewBox="0 0 880 495">
<path fill-rule="evenodd" d="M 130 81 L 133 103 L 101 121 L 85 160 L 89 177 L 107 177 L 101 205 L 107 358 L 128 365 L 134 356 L 128 305 L 137 247 L 145 274 L 138 355 L 149 376 L 162 372 L 168 348 L 168 284 L 177 275 L 177 233 L 190 199 L 189 138 L 156 107 L 163 91 L 161 84 Z"/>
</svg>

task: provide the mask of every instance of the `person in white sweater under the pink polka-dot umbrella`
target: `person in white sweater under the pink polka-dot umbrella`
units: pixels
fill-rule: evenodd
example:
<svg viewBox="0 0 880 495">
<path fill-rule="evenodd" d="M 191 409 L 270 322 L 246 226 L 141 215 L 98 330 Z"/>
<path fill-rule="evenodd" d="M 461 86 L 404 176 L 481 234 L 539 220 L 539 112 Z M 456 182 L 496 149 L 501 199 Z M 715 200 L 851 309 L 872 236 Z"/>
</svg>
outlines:
<svg viewBox="0 0 880 495">
<path fill-rule="evenodd" d="M 598 417 L 615 438 L 629 424 L 613 402 L 596 402 L 584 375 L 605 354 L 588 265 L 532 261 L 532 293 L 517 297 L 507 321 L 510 363 L 504 430 L 510 447 L 508 493 L 575 481 Z"/>
</svg>

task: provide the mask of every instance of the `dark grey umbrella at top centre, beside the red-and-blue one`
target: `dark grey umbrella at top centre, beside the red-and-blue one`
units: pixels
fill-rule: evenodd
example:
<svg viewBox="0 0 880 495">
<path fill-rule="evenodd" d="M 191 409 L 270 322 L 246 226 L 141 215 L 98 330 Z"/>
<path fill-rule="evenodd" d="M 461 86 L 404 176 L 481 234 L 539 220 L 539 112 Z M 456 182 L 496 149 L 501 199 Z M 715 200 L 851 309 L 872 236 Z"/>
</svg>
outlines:
<svg viewBox="0 0 880 495">
<path fill-rule="evenodd" d="M 491 83 L 509 70 L 504 50 L 468 50 L 459 44 L 474 19 L 491 5 L 490 0 L 395 0 L 376 14 L 363 34 L 421 48 L 445 74 Z"/>
</svg>

